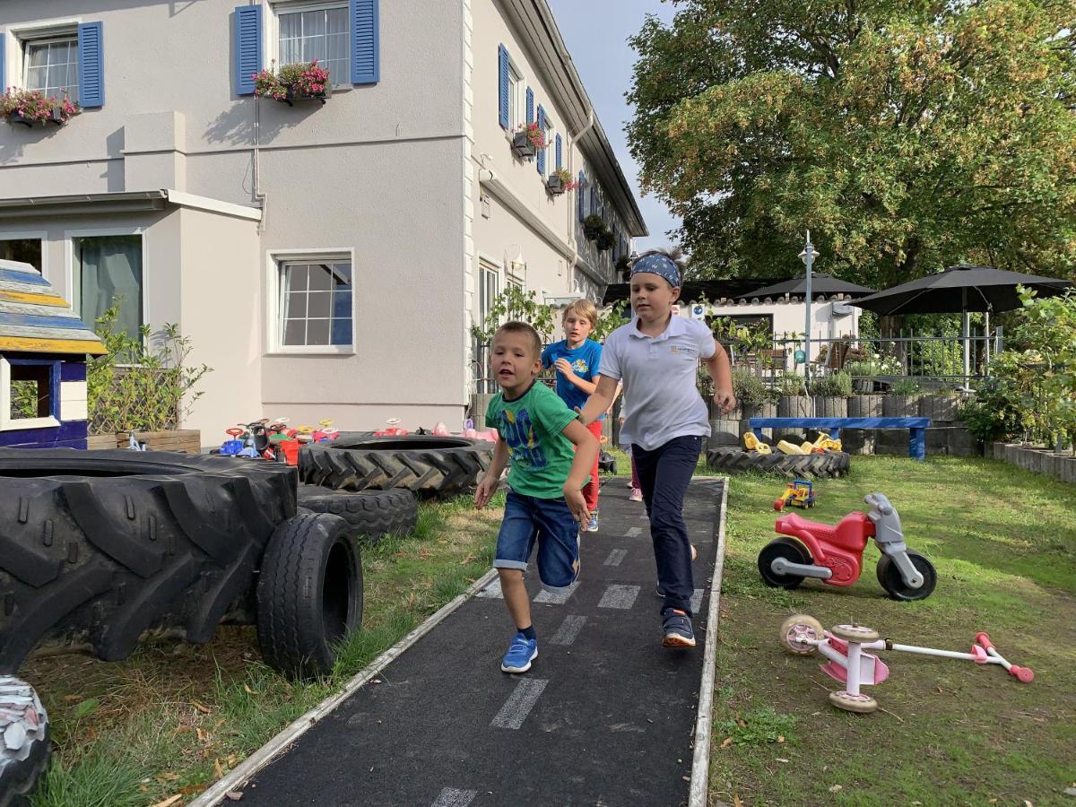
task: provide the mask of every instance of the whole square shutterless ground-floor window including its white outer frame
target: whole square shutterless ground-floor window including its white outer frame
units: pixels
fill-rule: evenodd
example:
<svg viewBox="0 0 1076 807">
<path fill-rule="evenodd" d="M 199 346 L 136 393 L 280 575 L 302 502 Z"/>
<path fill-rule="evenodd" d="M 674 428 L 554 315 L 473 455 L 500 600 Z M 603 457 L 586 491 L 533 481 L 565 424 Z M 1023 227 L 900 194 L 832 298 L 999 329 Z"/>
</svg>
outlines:
<svg viewBox="0 0 1076 807">
<path fill-rule="evenodd" d="M 355 352 L 350 251 L 277 254 L 271 271 L 272 352 Z"/>
</svg>

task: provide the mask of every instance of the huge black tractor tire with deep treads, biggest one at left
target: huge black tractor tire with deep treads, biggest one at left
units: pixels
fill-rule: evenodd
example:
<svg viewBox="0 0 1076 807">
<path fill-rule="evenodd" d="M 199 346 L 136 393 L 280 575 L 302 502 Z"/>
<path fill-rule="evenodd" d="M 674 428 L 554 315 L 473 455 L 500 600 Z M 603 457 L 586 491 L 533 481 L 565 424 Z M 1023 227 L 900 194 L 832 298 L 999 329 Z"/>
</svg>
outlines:
<svg viewBox="0 0 1076 807">
<path fill-rule="evenodd" d="M 0 450 L 0 674 L 39 645 L 117 661 L 213 638 L 296 512 L 296 471 L 174 452 Z"/>
</svg>

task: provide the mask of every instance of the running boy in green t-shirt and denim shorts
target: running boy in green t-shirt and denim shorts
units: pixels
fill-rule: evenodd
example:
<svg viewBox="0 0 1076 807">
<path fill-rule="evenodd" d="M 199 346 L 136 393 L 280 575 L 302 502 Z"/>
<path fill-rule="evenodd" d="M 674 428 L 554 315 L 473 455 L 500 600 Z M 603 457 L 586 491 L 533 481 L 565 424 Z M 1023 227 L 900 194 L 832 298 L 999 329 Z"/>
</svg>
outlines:
<svg viewBox="0 0 1076 807">
<path fill-rule="evenodd" d="M 497 536 L 493 566 L 519 633 L 501 660 L 505 672 L 526 672 L 538 656 L 530 600 L 523 583 L 538 541 L 538 577 L 547 589 L 565 589 L 579 576 L 579 525 L 590 518 L 582 487 L 597 456 L 598 441 L 556 393 L 535 383 L 541 372 L 541 338 L 521 322 L 501 325 L 491 359 L 500 394 L 490 401 L 485 425 L 499 438 L 493 462 L 475 492 L 475 506 L 490 501 L 509 456 L 512 490 Z M 575 451 L 572 450 L 575 443 Z"/>
</svg>

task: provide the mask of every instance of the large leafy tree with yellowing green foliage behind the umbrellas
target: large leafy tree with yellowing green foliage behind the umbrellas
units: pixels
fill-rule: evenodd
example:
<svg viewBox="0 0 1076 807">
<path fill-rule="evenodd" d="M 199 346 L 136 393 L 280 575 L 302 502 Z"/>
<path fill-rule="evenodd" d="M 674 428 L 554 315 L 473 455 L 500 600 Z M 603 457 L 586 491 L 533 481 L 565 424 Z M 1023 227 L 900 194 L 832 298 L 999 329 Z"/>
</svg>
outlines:
<svg viewBox="0 0 1076 807">
<path fill-rule="evenodd" d="M 968 260 L 1076 275 L 1071 0 L 676 0 L 628 125 L 695 277 L 882 288 Z"/>
</svg>

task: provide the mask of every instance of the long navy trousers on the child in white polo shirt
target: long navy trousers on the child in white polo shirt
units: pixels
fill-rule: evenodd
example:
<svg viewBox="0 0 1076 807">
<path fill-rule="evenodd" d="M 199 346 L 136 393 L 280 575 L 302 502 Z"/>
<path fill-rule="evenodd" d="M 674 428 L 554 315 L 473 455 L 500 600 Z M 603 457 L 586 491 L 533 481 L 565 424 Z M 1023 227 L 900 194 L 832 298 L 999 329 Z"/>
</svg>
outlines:
<svg viewBox="0 0 1076 807">
<path fill-rule="evenodd" d="M 657 586 L 665 592 L 663 611 L 679 608 L 691 613 L 695 582 L 691 574 L 691 541 L 683 523 L 683 497 L 702 452 L 702 437 L 674 437 L 653 451 L 632 447 L 642 500 L 650 516 Z"/>
</svg>

